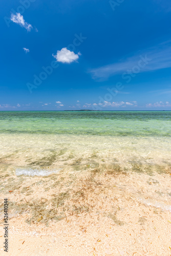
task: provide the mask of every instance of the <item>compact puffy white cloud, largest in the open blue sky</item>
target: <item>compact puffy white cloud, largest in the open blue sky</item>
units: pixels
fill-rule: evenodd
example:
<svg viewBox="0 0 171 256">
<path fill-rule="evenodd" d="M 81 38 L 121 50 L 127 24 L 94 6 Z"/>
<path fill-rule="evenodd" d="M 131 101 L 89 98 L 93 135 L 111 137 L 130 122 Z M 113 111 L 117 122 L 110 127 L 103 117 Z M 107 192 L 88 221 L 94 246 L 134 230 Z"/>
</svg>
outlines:
<svg viewBox="0 0 171 256">
<path fill-rule="evenodd" d="M 58 50 L 56 55 L 52 54 L 53 57 L 62 63 L 71 63 L 79 58 L 80 53 L 75 54 L 71 52 L 67 48 L 62 48 L 60 51 Z"/>
</svg>

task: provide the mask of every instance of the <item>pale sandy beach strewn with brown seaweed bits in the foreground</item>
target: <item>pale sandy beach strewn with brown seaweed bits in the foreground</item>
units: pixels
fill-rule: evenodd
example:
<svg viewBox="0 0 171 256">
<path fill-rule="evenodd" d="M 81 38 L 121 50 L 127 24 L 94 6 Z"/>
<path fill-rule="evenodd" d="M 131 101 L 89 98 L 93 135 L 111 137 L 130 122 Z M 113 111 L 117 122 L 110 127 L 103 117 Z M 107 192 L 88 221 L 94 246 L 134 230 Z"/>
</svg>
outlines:
<svg viewBox="0 0 171 256">
<path fill-rule="evenodd" d="M 171 255 L 170 167 L 138 168 L 32 177 L 9 175 L 8 166 L 1 172 L 1 205 L 9 200 L 8 254 Z M 1 214 L 1 255 L 3 232 Z"/>
</svg>

